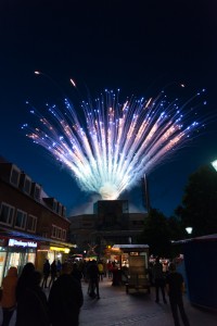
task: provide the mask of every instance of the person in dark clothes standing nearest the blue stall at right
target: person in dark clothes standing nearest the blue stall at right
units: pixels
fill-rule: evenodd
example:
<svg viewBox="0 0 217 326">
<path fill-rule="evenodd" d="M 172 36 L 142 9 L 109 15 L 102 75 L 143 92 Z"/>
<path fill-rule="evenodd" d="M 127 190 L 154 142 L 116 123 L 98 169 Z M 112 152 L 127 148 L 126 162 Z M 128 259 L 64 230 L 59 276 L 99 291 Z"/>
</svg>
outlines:
<svg viewBox="0 0 217 326">
<path fill-rule="evenodd" d="M 178 309 L 183 325 L 190 326 L 189 319 L 184 311 L 183 299 L 182 299 L 184 292 L 183 277 L 180 273 L 176 272 L 176 264 L 170 263 L 168 269 L 169 269 L 169 274 L 166 277 L 166 290 L 169 296 L 169 303 L 171 308 L 175 326 L 180 326 Z"/>
</svg>

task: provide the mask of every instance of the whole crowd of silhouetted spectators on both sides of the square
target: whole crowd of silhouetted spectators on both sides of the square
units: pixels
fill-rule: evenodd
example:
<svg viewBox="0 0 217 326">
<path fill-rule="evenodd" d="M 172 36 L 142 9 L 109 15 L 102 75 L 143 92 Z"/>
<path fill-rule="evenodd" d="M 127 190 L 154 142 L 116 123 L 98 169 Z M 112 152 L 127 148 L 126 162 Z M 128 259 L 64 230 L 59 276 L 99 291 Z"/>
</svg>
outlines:
<svg viewBox="0 0 217 326">
<path fill-rule="evenodd" d="M 99 283 L 105 276 L 111 278 L 114 268 L 115 262 L 105 264 L 103 261 L 91 260 L 60 264 L 53 261 L 50 264 L 46 260 L 42 274 L 36 271 L 33 263 L 27 263 L 17 276 L 16 267 L 10 267 L 2 281 L 2 326 L 10 325 L 14 311 L 16 326 L 77 326 L 84 304 L 81 279 L 88 283 L 90 298 L 100 299 Z M 176 271 L 176 264 L 170 263 L 165 272 L 162 262 L 156 258 L 150 268 L 150 280 L 155 287 L 156 303 L 159 302 L 159 293 L 165 304 L 168 296 L 175 326 L 180 325 L 178 310 L 183 325 L 189 326 L 182 301 L 184 281 L 182 275 Z M 46 288 L 50 289 L 48 296 Z"/>
</svg>

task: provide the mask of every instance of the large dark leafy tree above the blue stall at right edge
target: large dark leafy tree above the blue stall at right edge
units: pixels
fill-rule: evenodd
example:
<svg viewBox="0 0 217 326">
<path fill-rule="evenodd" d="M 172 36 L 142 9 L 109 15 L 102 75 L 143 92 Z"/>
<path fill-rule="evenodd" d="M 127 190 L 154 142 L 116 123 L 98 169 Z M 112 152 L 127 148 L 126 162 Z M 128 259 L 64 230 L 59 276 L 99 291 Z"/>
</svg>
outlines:
<svg viewBox="0 0 217 326">
<path fill-rule="evenodd" d="M 204 165 L 189 176 L 182 204 L 175 213 L 183 227 L 193 227 L 193 236 L 217 233 L 217 172 Z"/>
</svg>

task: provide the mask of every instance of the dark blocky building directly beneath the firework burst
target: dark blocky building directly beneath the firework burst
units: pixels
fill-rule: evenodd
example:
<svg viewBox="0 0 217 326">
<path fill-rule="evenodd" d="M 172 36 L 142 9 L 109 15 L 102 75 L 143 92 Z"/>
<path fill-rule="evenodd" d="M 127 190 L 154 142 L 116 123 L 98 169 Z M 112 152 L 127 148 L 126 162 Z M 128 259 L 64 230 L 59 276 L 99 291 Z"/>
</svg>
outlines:
<svg viewBox="0 0 217 326">
<path fill-rule="evenodd" d="M 129 213 L 127 200 L 100 200 L 93 204 L 93 214 L 71 216 L 71 241 L 81 252 L 92 246 L 102 255 L 115 243 L 135 243 L 142 233 L 146 213 Z"/>
</svg>

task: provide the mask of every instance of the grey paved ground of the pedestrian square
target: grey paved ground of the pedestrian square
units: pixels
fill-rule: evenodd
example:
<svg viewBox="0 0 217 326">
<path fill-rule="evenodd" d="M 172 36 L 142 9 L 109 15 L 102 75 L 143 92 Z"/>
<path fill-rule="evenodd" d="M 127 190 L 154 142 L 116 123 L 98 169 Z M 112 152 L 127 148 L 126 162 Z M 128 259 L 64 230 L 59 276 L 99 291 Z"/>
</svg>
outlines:
<svg viewBox="0 0 217 326">
<path fill-rule="evenodd" d="M 104 279 L 100 283 L 101 299 L 98 300 L 89 298 L 87 287 L 82 283 L 85 303 L 80 311 L 80 326 L 174 326 L 169 304 L 156 304 L 154 289 L 151 294 L 145 291 L 126 294 L 125 287 L 114 287 L 111 280 Z M 191 326 L 217 326 L 217 313 L 192 306 L 186 297 L 184 306 Z M 1 321 L 0 310 L 0 325 Z M 10 323 L 10 326 L 14 325 L 15 314 Z"/>
</svg>

